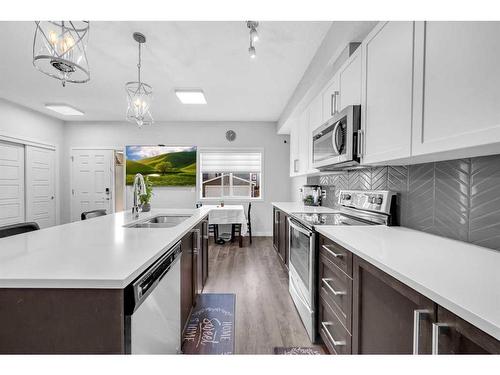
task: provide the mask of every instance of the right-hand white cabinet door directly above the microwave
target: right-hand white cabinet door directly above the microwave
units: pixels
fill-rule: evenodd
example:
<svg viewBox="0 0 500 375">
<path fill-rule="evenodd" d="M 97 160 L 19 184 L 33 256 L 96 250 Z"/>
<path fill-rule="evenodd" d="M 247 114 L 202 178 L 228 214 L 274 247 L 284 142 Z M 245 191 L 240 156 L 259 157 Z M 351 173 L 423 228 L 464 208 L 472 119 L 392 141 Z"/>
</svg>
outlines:
<svg viewBox="0 0 500 375">
<path fill-rule="evenodd" d="M 338 81 L 339 111 L 348 105 L 361 104 L 361 48 L 358 48 L 340 68 Z"/>
</svg>

